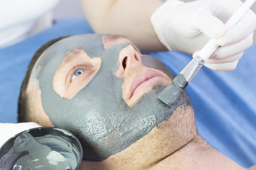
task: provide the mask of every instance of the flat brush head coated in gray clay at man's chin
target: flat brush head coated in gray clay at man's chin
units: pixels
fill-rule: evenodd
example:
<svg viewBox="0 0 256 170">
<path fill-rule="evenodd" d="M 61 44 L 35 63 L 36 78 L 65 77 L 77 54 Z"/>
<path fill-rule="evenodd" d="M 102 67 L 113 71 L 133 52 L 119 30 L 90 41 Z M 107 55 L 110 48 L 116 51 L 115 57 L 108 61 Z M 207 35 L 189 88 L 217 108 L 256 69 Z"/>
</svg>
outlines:
<svg viewBox="0 0 256 170">
<path fill-rule="evenodd" d="M 188 86 L 188 81 L 183 76 L 183 74 L 178 74 L 174 80 L 169 84 L 169 86 L 164 89 L 164 91 L 159 94 L 158 99 L 165 103 L 167 106 L 171 107 L 181 95 L 183 89 Z"/>
</svg>

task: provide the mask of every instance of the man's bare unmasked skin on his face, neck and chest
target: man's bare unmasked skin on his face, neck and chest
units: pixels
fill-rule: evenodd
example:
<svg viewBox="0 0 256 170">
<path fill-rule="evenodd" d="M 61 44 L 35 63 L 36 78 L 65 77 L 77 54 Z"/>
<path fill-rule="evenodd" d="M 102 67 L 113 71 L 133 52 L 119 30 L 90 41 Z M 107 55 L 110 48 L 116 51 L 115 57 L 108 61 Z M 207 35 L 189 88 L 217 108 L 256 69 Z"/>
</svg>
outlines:
<svg viewBox="0 0 256 170">
<path fill-rule="evenodd" d="M 105 46 L 127 43 L 129 40 L 116 40 L 114 42 L 102 38 Z M 95 74 L 100 69 L 102 60 L 97 57 L 92 58 L 80 50 L 73 50 L 73 56 L 80 60 L 68 60 L 67 55 L 63 62 L 56 69 L 53 78 L 53 89 L 55 92 L 64 98 L 73 98 L 81 89 L 81 85 L 89 84 L 93 80 Z M 70 53 L 71 54 L 71 53 Z M 130 98 L 131 90 L 127 88 L 132 84 L 134 75 L 138 72 L 148 70 L 142 64 L 142 59 L 139 57 L 140 52 L 132 44 L 124 47 L 119 52 L 119 66 L 122 65 L 124 58 L 128 57 L 126 69 L 119 67 L 115 76 L 124 78 L 122 84 L 122 98 L 128 106 L 136 105 L 138 99 L 143 94 L 151 91 L 152 84 L 147 84 L 142 89 L 138 89 L 134 95 L 134 99 Z M 82 80 L 79 77 L 85 76 L 80 74 L 75 78 L 75 84 L 65 84 L 70 82 L 70 69 L 75 65 L 80 65 L 81 59 L 85 59 L 92 65 L 92 69 L 87 79 Z M 63 64 L 63 66 L 61 66 Z M 136 69 L 139 68 L 139 69 Z M 156 72 L 161 72 L 156 70 Z M 163 74 L 164 75 L 164 74 Z M 163 76 L 161 81 L 171 82 L 168 77 Z M 67 81 L 68 79 L 68 81 Z M 72 77 L 71 77 L 72 79 Z M 80 83 L 78 83 L 80 82 Z M 154 83 L 157 83 L 155 81 Z M 57 88 L 58 87 L 58 88 Z M 71 88 L 72 87 L 72 88 Z M 31 77 L 28 84 L 28 94 L 33 94 L 33 108 L 37 108 L 40 117 L 41 125 L 53 125 L 43 109 L 41 101 L 41 89 L 38 85 L 38 80 Z M 33 109 L 31 108 L 31 109 Z M 196 132 L 196 125 L 191 106 L 178 106 L 174 113 L 152 128 L 150 132 L 134 142 L 129 147 L 122 151 L 107 157 L 101 162 L 83 161 L 79 169 L 243 169 L 232 160 L 225 157 L 220 152 L 210 147 Z"/>
</svg>

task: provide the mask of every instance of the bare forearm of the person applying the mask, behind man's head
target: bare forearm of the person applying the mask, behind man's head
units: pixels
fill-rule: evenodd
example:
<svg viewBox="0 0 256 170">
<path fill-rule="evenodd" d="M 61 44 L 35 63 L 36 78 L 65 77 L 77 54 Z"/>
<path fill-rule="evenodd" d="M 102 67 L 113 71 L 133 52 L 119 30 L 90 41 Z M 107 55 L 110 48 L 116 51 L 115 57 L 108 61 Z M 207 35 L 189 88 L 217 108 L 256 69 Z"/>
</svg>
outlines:
<svg viewBox="0 0 256 170">
<path fill-rule="evenodd" d="M 132 40 L 142 52 L 167 50 L 157 38 L 150 22 L 151 14 L 156 11 L 156 8 L 163 4 L 163 1 L 80 1 L 85 16 L 90 26 L 95 30 L 95 33 L 125 35 L 129 40 Z M 95 8 L 97 8 L 97 10 L 95 10 Z"/>
</svg>

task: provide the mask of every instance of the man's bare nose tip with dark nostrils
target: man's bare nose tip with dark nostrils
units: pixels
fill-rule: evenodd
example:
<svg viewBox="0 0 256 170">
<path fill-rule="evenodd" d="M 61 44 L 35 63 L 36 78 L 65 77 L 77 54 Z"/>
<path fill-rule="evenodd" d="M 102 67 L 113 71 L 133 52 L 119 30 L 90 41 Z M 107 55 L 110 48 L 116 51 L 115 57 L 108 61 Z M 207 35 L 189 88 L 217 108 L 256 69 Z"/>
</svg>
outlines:
<svg viewBox="0 0 256 170">
<path fill-rule="evenodd" d="M 116 72 L 117 77 L 123 77 L 128 69 L 139 67 L 141 63 L 142 58 L 132 45 L 124 47 L 124 49 L 119 52 L 119 68 Z"/>
</svg>

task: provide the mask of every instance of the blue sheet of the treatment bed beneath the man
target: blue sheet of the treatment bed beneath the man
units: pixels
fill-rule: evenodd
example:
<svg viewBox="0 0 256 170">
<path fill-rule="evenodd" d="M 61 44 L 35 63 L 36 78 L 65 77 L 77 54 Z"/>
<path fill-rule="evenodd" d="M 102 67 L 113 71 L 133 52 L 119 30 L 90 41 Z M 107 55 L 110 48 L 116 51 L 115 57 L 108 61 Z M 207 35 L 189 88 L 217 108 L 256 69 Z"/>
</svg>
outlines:
<svg viewBox="0 0 256 170">
<path fill-rule="evenodd" d="M 85 18 L 56 21 L 52 28 L 0 50 L 0 122 L 17 122 L 18 94 L 33 54 L 61 35 L 93 33 Z M 191 60 L 181 52 L 150 55 L 178 72 Z M 241 166 L 256 164 L 256 47 L 246 50 L 237 69 L 215 72 L 203 67 L 187 87 L 199 134 Z"/>
</svg>

